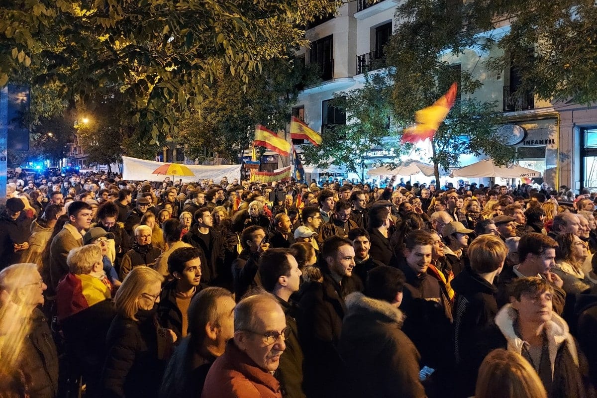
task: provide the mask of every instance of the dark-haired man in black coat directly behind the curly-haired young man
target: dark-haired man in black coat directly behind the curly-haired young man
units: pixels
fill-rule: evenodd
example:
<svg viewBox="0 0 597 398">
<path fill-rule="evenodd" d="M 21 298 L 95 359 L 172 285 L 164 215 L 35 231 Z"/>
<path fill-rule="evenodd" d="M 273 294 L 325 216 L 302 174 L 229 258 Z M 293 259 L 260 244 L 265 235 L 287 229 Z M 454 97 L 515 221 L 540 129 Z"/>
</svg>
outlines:
<svg viewBox="0 0 597 398">
<path fill-rule="evenodd" d="M 195 214 L 195 224 L 190 231 L 184 234 L 182 241 L 202 251 L 205 255 L 205 262 L 201 267 L 201 279 L 208 285 L 222 286 L 230 283 L 230 280 L 217 280 L 229 275 L 223 271 L 224 264 L 224 242 L 222 236 L 214 230 L 214 218 L 207 207 L 199 208 Z"/>
</svg>

